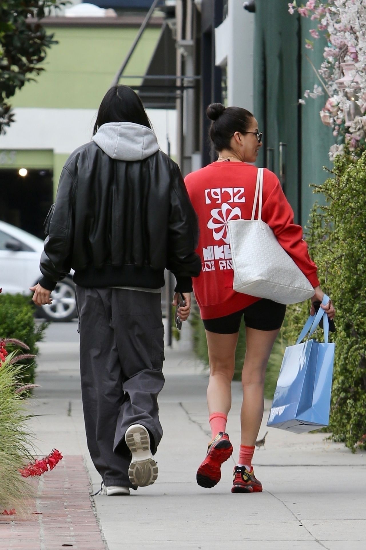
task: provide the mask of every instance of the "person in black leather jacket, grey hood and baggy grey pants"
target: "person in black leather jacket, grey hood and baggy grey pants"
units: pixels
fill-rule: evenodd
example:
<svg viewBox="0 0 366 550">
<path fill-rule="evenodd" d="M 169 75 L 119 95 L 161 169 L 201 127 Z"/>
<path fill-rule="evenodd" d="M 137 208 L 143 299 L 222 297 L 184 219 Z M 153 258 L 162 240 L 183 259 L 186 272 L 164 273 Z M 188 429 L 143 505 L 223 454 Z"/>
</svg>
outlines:
<svg viewBox="0 0 366 550">
<path fill-rule="evenodd" d="M 100 493 L 154 483 L 164 385 L 161 287 L 176 277 L 190 310 L 198 223 L 176 163 L 160 151 L 147 113 L 127 86 L 99 107 L 93 140 L 74 151 L 46 219 L 37 305 L 75 271 L 82 400 Z"/>
</svg>

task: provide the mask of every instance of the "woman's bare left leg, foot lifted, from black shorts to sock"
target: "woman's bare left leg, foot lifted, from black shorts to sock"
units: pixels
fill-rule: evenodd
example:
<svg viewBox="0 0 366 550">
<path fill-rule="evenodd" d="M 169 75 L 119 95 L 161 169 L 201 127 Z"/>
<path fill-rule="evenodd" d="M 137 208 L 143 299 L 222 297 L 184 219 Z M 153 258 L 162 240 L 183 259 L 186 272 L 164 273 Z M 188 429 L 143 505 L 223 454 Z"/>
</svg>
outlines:
<svg viewBox="0 0 366 550">
<path fill-rule="evenodd" d="M 232 404 L 231 382 L 234 376 L 235 349 L 239 333 L 216 334 L 206 331 L 210 360 L 207 404 L 213 412 L 228 414 Z"/>
</svg>

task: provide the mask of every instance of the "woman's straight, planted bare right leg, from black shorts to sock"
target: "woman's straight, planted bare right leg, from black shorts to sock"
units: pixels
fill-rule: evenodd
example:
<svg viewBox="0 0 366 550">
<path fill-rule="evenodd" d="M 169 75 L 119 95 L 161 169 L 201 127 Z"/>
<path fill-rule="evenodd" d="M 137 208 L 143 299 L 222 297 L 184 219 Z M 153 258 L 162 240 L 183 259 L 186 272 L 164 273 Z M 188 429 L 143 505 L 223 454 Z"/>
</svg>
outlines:
<svg viewBox="0 0 366 550">
<path fill-rule="evenodd" d="M 264 377 L 269 356 L 279 329 L 258 331 L 245 328 L 246 353 L 241 382 L 243 383 L 243 405 L 241 405 L 241 445 L 253 447 L 261 426 L 264 409 Z"/>
</svg>

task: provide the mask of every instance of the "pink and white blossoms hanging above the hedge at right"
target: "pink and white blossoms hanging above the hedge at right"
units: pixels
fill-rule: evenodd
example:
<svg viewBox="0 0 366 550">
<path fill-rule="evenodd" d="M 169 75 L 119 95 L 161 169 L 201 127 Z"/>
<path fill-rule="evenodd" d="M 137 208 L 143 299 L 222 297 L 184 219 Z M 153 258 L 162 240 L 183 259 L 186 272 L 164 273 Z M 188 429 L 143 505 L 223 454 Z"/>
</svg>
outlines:
<svg viewBox="0 0 366 550">
<path fill-rule="evenodd" d="M 329 151 L 330 160 L 349 153 L 360 157 L 366 150 L 366 5 L 363 0 L 308 0 L 297 5 L 290 2 L 290 14 L 314 21 L 306 39 L 313 49 L 314 41 L 325 34 L 324 61 L 316 71 L 322 83 L 305 97 L 328 96 L 320 111 L 323 124 L 331 127 L 336 144 Z M 304 100 L 299 100 L 303 104 Z"/>
</svg>

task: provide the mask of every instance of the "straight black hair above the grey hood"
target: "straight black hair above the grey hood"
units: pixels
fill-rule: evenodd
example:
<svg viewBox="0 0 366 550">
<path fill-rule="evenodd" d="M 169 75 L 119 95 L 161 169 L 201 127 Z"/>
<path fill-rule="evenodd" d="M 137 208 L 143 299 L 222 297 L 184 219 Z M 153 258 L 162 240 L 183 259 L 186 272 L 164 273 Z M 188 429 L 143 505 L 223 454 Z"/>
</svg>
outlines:
<svg viewBox="0 0 366 550">
<path fill-rule="evenodd" d="M 151 129 L 151 123 L 139 96 L 129 86 L 112 86 L 103 97 L 94 124 L 93 135 L 108 122 L 133 122 Z"/>
</svg>

